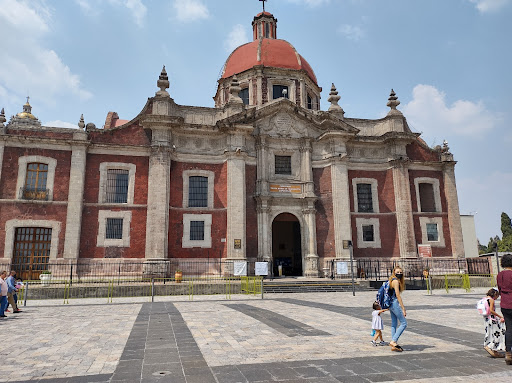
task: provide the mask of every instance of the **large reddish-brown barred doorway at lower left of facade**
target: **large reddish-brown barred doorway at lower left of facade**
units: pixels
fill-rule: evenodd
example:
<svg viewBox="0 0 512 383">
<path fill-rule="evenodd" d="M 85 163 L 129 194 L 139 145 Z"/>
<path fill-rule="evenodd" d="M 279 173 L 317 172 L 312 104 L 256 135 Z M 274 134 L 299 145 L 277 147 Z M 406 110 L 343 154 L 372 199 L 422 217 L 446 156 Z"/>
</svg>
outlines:
<svg viewBox="0 0 512 383">
<path fill-rule="evenodd" d="M 44 227 L 19 227 L 14 240 L 12 269 L 23 280 L 38 279 L 48 270 L 52 229 Z"/>
</svg>

